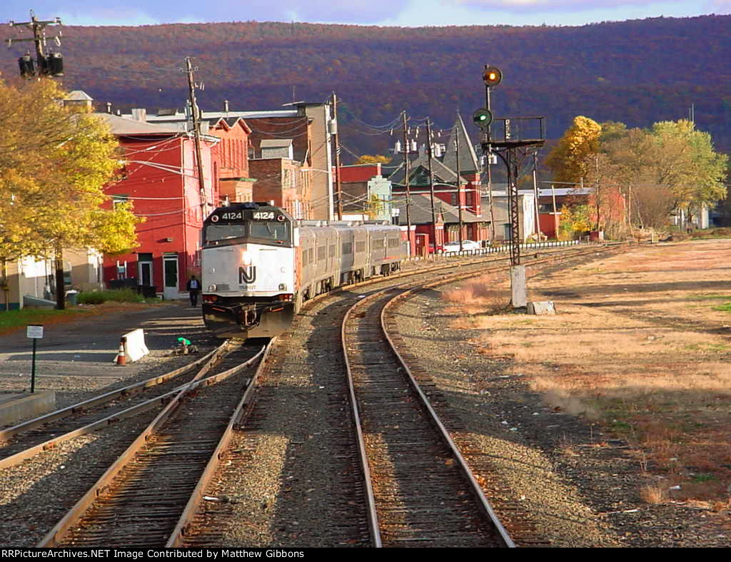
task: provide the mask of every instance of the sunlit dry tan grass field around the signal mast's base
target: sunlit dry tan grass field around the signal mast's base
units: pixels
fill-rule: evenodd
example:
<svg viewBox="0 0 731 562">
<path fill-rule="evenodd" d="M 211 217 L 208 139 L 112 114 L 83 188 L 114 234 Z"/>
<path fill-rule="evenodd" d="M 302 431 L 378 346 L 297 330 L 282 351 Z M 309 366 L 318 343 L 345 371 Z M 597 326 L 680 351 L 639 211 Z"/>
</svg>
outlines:
<svg viewBox="0 0 731 562">
<path fill-rule="evenodd" d="M 556 316 L 501 310 L 507 276 L 445 294 L 455 328 L 486 358 L 512 358 L 531 390 L 637 447 L 673 500 L 728 501 L 731 484 L 731 241 L 638 247 L 550 277 L 529 300 Z M 502 301 L 502 304 L 501 304 Z M 462 315 L 458 315 L 461 311 Z M 570 447 L 567 447 L 570 450 Z M 652 489 L 650 489 L 652 488 Z M 646 501 L 670 497 L 648 487 Z"/>
</svg>

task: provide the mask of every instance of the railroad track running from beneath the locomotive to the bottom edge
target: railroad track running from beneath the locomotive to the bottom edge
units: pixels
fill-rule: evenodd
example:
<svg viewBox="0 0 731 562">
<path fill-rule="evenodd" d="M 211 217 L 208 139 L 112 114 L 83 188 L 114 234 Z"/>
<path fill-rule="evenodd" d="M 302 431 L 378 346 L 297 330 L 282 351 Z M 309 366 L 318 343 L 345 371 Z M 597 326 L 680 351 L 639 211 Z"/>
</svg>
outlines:
<svg viewBox="0 0 731 562">
<path fill-rule="evenodd" d="M 216 365 L 216 374 L 189 382 L 39 547 L 178 544 L 264 354 L 262 348 L 251 357 L 251 347 L 240 346 Z"/>
</svg>

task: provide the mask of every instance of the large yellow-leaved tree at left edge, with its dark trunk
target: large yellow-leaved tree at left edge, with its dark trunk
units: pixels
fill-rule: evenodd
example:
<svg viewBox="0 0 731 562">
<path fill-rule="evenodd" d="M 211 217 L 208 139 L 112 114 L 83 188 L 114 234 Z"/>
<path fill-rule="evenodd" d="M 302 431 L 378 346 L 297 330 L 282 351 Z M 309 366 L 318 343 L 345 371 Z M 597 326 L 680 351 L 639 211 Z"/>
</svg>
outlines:
<svg viewBox="0 0 731 562">
<path fill-rule="evenodd" d="M 64 96 L 48 79 L 0 82 L 0 262 L 53 256 L 59 309 L 64 248 L 124 251 L 139 222 L 129 206 L 100 208 L 118 144 L 99 118 L 64 107 Z"/>
</svg>

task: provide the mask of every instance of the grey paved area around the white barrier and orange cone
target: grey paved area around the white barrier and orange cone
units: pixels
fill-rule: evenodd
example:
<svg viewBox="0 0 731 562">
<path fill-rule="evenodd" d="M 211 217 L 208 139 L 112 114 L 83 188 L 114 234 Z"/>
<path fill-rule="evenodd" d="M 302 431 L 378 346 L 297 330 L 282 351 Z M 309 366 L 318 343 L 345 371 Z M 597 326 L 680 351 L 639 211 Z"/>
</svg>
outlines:
<svg viewBox="0 0 731 562">
<path fill-rule="evenodd" d="M 113 361 L 122 334 L 136 328 L 145 331 L 150 355 L 126 366 Z M 211 336 L 203 325 L 200 307 L 188 303 L 156 307 L 129 307 L 71 323 L 45 326 L 36 350 L 36 377 L 93 377 L 97 382 L 135 377 L 161 361 L 185 337 L 208 347 Z M 29 386 L 33 342 L 26 330 L 0 336 L 0 390 L 20 391 Z M 40 384 L 42 387 L 42 383 Z"/>
</svg>

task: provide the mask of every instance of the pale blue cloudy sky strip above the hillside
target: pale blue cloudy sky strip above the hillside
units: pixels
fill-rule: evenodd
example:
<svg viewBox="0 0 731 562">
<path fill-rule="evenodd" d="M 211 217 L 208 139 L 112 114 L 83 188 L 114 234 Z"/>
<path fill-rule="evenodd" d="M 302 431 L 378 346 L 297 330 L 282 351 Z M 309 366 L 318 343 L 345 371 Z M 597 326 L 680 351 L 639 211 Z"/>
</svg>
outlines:
<svg viewBox="0 0 731 562">
<path fill-rule="evenodd" d="M 69 26 L 247 20 L 405 27 L 581 26 L 661 15 L 730 14 L 731 0 L 2 0 L 0 23 L 27 21 L 30 8 L 39 20 L 59 17 Z"/>
</svg>

